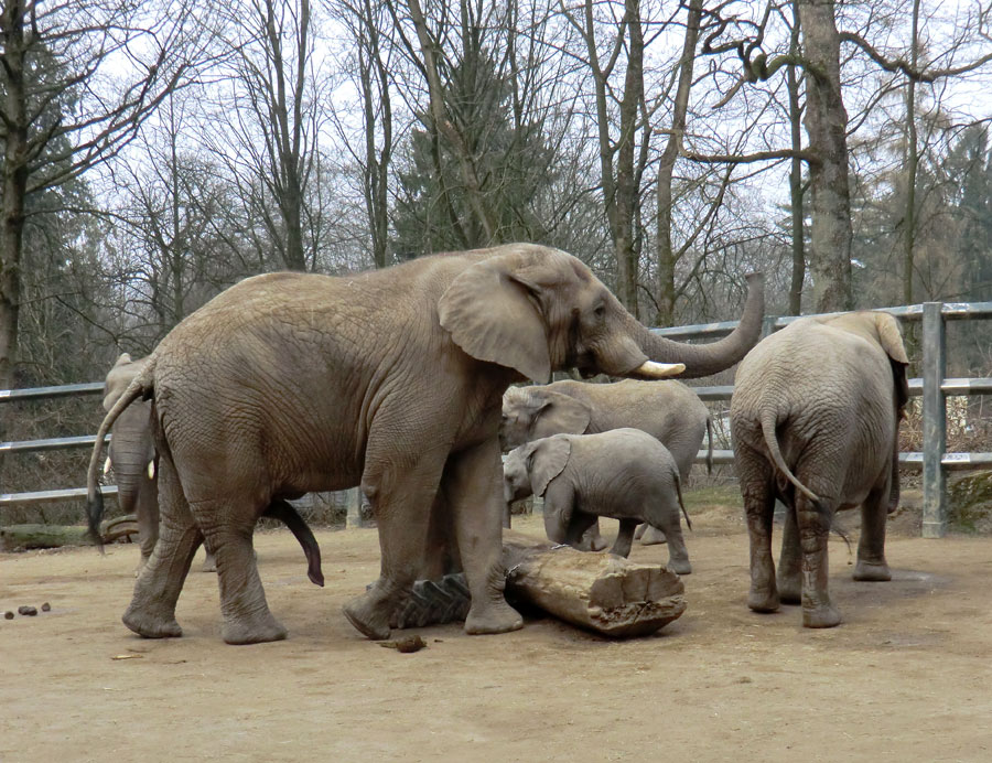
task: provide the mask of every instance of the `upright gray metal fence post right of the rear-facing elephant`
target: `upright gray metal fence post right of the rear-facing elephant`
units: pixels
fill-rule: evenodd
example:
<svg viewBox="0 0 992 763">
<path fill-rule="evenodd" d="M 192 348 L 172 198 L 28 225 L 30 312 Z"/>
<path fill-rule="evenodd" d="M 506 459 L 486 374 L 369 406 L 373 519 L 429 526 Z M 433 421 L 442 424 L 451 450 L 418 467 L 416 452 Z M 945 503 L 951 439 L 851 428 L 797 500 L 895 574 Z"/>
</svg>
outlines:
<svg viewBox="0 0 992 763">
<path fill-rule="evenodd" d="M 946 338 L 940 302 L 925 302 L 923 316 L 923 537 L 942 538 L 947 533 L 946 474 L 940 460 L 947 450 L 947 409 L 944 384 Z"/>
</svg>

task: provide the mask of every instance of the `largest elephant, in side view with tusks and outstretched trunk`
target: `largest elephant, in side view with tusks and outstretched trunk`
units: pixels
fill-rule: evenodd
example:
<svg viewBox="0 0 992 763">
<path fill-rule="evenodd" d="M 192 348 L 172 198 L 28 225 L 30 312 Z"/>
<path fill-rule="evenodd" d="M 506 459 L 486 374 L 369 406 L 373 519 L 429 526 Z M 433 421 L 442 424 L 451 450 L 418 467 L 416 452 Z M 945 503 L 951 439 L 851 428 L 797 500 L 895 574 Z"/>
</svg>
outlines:
<svg viewBox="0 0 992 763">
<path fill-rule="evenodd" d="M 556 368 L 653 377 L 712 374 L 761 332 L 752 277 L 741 327 L 709 346 L 641 326 L 574 257 L 533 245 L 438 255 L 332 278 L 246 279 L 159 344 L 101 425 L 153 397 L 159 542 L 125 623 L 177 636 L 175 603 L 205 541 L 217 558 L 229 643 L 285 636 L 251 554 L 255 520 L 273 497 L 362 485 L 377 517 L 379 579 L 345 608 L 370 638 L 425 566 L 461 566 L 468 633 L 522 625 L 503 597 L 499 416 L 514 382 Z M 98 443 L 100 439 L 98 439 Z M 99 444 L 89 468 L 90 524 Z M 438 560 L 443 565 L 438 565 Z"/>
</svg>

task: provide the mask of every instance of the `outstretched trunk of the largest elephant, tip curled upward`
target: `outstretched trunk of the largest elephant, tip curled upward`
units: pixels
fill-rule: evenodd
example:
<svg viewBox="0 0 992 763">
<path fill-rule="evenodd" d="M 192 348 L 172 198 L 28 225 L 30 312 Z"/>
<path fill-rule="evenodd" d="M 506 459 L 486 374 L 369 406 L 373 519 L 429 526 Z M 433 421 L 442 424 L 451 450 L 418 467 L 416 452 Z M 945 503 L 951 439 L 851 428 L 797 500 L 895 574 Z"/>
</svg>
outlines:
<svg viewBox="0 0 992 763">
<path fill-rule="evenodd" d="M 741 322 L 722 340 L 699 345 L 673 342 L 645 329 L 633 315 L 627 318 L 629 336 L 651 361 L 684 363 L 686 370 L 680 378 L 698 378 L 730 368 L 762 337 L 762 320 L 765 315 L 764 278 L 761 273 L 750 273 L 746 278 L 747 300 Z"/>
</svg>

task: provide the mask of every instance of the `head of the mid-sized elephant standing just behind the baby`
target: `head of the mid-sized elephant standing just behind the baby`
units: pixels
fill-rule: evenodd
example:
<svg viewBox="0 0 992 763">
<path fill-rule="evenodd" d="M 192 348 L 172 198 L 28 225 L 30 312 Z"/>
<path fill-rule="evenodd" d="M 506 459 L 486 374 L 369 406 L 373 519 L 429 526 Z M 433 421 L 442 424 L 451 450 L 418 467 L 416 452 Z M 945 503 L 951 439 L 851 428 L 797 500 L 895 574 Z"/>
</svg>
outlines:
<svg viewBox="0 0 992 763">
<path fill-rule="evenodd" d="M 590 407 L 569 395 L 542 387 L 510 387 L 503 396 L 499 444 L 509 450 L 552 434 L 582 434 L 591 418 Z"/>
</svg>

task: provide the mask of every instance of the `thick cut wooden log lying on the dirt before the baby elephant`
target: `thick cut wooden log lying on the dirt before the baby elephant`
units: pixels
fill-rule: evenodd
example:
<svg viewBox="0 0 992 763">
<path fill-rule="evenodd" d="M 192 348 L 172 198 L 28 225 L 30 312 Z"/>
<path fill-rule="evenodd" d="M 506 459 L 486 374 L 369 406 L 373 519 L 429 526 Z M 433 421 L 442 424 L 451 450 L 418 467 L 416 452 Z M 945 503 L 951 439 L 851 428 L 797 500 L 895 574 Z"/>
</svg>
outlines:
<svg viewBox="0 0 992 763">
<path fill-rule="evenodd" d="M 612 554 L 503 534 L 507 593 L 580 627 L 617 638 L 645 636 L 686 611 L 675 572 Z"/>
</svg>

